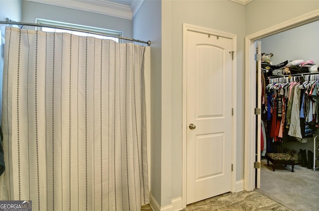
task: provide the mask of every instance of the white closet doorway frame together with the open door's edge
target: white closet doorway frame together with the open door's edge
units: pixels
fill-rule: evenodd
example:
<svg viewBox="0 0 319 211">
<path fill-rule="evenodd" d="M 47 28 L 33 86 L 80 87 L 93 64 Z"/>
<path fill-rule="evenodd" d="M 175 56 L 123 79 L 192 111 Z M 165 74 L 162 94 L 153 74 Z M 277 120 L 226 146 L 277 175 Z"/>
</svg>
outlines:
<svg viewBox="0 0 319 211">
<path fill-rule="evenodd" d="M 260 188 L 260 163 L 261 152 L 258 148 L 260 144 L 260 130 L 256 130 L 256 126 L 260 126 L 260 118 L 256 119 L 255 108 L 261 108 L 260 103 L 257 103 L 261 98 L 258 92 L 258 87 L 261 87 L 260 76 L 257 74 L 255 61 L 256 41 L 269 37 L 271 35 L 283 32 L 298 26 L 305 25 L 319 20 L 319 11 L 311 12 L 292 20 L 275 25 L 263 31 L 254 33 L 246 37 L 246 87 L 245 87 L 245 187 L 246 191 L 252 191 L 255 188 Z M 263 52 L 263 49 L 261 49 Z M 272 52 L 270 52 L 272 53 Z M 257 79 L 257 82 L 256 82 Z M 258 80 L 259 79 L 259 80 Z M 260 102 L 260 100 L 259 100 Z M 254 112 L 255 111 L 255 112 Z M 258 115 L 257 115 L 258 116 Z M 255 167 L 254 167 L 254 164 Z"/>
</svg>

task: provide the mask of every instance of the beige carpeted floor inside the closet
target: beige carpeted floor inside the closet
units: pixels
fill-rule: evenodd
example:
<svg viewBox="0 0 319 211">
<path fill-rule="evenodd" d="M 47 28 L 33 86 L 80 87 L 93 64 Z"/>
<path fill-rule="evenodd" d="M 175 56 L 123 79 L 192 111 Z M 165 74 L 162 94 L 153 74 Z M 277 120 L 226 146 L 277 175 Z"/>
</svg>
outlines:
<svg viewBox="0 0 319 211">
<path fill-rule="evenodd" d="M 269 197 L 292 211 L 319 211 L 319 170 L 301 165 L 267 166 L 267 160 L 261 160 L 260 189 L 257 192 Z"/>
</svg>

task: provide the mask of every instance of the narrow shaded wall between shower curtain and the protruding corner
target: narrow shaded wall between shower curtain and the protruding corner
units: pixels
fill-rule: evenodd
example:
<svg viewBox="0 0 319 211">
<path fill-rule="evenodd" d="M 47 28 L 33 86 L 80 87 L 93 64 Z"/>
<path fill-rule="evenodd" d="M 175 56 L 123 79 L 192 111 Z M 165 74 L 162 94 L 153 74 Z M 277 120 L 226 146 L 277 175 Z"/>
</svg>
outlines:
<svg viewBox="0 0 319 211">
<path fill-rule="evenodd" d="M 162 177 L 165 168 L 161 163 L 161 2 L 146 0 L 133 19 L 133 37 L 151 40 L 151 193 L 161 202 L 161 185 L 164 181 L 166 192 L 171 185 Z M 165 176 L 165 175 L 164 175 Z M 167 175 L 166 175 L 167 177 Z M 167 191 L 167 185 L 169 190 Z M 170 197 L 170 194 L 166 197 Z"/>
</svg>

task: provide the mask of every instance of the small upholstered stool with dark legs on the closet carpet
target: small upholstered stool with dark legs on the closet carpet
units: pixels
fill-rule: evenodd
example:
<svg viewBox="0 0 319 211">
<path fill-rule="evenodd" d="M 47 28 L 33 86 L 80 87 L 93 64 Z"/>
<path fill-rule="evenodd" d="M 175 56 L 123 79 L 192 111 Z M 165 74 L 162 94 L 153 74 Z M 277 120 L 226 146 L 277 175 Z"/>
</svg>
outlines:
<svg viewBox="0 0 319 211">
<path fill-rule="evenodd" d="M 291 172 L 294 172 L 295 161 L 298 159 L 290 156 L 287 153 L 267 153 L 267 166 L 269 166 L 269 161 L 273 163 L 273 171 L 275 171 L 275 165 L 292 165 Z"/>
</svg>

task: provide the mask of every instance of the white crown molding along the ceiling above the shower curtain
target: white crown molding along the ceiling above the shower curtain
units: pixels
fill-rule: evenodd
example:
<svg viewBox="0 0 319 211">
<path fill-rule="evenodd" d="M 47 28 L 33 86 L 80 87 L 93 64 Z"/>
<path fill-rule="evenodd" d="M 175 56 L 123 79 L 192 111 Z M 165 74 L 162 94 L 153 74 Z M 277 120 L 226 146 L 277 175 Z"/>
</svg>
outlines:
<svg viewBox="0 0 319 211">
<path fill-rule="evenodd" d="M 95 12 L 104 15 L 132 20 L 144 0 L 132 0 L 131 5 L 114 3 L 107 0 L 25 0 L 62 6 L 82 11 Z"/>
</svg>

